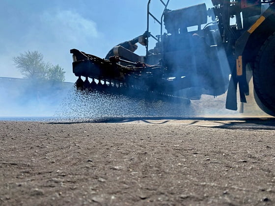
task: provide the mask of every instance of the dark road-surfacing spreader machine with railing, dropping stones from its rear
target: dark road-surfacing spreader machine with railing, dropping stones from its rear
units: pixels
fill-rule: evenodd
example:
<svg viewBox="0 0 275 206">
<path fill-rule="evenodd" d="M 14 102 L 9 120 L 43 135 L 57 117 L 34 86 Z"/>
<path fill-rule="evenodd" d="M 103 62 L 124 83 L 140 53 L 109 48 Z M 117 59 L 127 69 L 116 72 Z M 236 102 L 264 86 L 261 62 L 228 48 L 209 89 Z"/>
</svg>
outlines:
<svg viewBox="0 0 275 206">
<path fill-rule="evenodd" d="M 275 116 L 275 0 L 212 0 L 211 8 L 201 3 L 176 10 L 169 0 L 155 1 L 163 5 L 161 16 L 148 0 L 146 31 L 105 58 L 70 51 L 77 88 L 182 102 L 227 92 L 231 110 L 238 109 L 237 94 L 246 103 L 252 92 L 258 106 Z M 151 20 L 159 25 L 157 35 Z M 134 52 L 136 43 L 146 55 Z"/>
</svg>

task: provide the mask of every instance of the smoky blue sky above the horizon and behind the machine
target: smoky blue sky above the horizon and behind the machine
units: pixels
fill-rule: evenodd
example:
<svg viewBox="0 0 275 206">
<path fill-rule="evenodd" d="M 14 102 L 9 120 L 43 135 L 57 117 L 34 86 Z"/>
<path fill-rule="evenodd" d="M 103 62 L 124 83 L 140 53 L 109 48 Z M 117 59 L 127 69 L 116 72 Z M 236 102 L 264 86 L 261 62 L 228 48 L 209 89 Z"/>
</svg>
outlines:
<svg viewBox="0 0 275 206">
<path fill-rule="evenodd" d="M 211 0 L 170 0 L 170 9 Z M 152 0 L 157 15 L 163 7 Z M 147 0 L 2 0 L 0 8 L 0 77 L 22 77 L 12 57 L 38 51 L 59 64 L 74 82 L 70 49 L 105 57 L 116 44 L 146 30 Z M 154 26 L 154 25 L 153 25 Z M 157 33 L 156 33 L 157 34 Z M 138 54 L 145 53 L 139 45 Z"/>
</svg>

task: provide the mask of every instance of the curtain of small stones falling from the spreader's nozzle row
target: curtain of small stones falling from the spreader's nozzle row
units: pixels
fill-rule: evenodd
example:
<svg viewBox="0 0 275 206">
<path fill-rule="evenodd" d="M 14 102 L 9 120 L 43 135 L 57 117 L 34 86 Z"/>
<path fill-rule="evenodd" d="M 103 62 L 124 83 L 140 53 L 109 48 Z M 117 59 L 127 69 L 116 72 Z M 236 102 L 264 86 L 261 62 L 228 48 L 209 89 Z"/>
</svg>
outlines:
<svg viewBox="0 0 275 206">
<path fill-rule="evenodd" d="M 84 92 L 72 87 L 55 117 L 65 122 L 97 122 L 127 117 L 182 117 L 193 115 L 189 105 L 163 101 L 145 101 L 123 95 Z"/>
</svg>

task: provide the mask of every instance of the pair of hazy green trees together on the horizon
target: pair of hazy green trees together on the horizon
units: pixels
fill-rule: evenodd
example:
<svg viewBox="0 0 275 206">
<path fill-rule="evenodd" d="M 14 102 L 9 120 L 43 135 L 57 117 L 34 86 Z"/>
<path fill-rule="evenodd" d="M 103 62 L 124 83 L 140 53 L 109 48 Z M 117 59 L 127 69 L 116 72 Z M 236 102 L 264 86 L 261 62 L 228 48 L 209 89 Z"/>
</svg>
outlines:
<svg viewBox="0 0 275 206">
<path fill-rule="evenodd" d="M 43 60 L 43 54 L 38 51 L 20 53 L 13 57 L 15 66 L 24 78 L 42 79 L 48 81 L 64 81 L 65 71 L 58 64 L 52 65 Z"/>
</svg>

